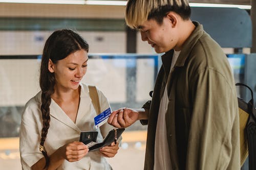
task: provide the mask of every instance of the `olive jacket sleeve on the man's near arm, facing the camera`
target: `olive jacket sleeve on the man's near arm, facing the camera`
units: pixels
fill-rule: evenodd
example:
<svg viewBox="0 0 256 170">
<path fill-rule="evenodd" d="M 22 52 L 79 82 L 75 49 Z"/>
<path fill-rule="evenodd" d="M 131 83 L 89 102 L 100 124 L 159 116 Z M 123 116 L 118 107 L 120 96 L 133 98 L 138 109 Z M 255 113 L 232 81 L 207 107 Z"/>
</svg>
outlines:
<svg viewBox="0 0 256 170">
<path fill-rule="evenodd" d="M 191 83 L 186 169 L 240 169 L 238 101 L 232 83 L 210 68 Z"/>
</svg>

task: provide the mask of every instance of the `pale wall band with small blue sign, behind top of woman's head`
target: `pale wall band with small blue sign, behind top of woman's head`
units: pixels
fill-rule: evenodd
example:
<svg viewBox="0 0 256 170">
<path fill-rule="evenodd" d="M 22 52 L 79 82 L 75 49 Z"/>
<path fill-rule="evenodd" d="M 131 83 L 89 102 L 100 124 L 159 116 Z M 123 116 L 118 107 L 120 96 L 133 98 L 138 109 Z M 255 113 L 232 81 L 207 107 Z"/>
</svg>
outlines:
<svg viewBox="0 0 256 170">
<path fill-rule="evenodd" d="M 1 55 L 39 55 L 50 31 L 0 31 Z M 125 53 L 124 32 L 78 32 L 89 43 L 90 53 Z M 99 41 L 98 39 L 102 39 Z"/>
</svg>

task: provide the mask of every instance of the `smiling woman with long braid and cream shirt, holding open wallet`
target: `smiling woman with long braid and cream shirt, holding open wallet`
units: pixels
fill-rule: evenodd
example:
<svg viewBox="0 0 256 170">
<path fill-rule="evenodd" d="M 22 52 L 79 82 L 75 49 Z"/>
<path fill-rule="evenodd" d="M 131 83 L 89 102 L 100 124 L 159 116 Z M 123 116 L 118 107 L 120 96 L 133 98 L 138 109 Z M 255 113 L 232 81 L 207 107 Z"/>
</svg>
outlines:
<svg viewBox="0 0 256 170">
<path fill-rule="evenodd" d="M 111 169 L 104 157 L 117 153 L 114 142 L 88 153 L 79 142 L 81 131 L 95 129 L 95 109 L 88 86 L 80 84 L 87 71 L 89 46 L 71 30 L 55 31 L 46 41 L 41 59 L 40 88 L 25 106 L 20 126 L 20 158 L 23 169 Z M 101 112 L 110 107 L 97 89 Z M 101 132 L 112 129 L 104 125 Z"/>
</svg>

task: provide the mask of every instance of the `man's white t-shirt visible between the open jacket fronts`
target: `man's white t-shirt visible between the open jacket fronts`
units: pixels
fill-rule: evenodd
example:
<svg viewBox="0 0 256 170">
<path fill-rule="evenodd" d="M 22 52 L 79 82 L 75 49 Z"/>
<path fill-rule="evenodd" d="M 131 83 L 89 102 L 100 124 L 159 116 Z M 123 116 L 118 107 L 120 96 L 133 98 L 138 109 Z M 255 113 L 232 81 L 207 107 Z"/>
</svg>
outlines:
<svg viewBox="0 0 256 170">
<path fill-rule="evenodd" d="M 170 71 L 172 71 L 180 51 L 174 51 L 172 64 L 170 66 Z M 167 83 L 166 83 L 167 85 Z M 155 138 L 155 161 L 154 170 L 171 170 L 172 162 L 170 162 L 169 148 L 166 137 L 166 123 L 165 123 L 165 113 L 168 107 L 168 94 L 167 86 L 165 85 L 163 97 L 159 106 L 159 113 L 157 119 L 157 129 Z"/>
</svg>

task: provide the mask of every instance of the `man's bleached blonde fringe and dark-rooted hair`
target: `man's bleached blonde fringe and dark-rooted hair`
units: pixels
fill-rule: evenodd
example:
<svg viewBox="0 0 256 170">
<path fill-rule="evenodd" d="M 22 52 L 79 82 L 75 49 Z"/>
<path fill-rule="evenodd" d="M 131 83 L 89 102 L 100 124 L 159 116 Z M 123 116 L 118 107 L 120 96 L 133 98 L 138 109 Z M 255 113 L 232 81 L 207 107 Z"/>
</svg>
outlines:
<svg viewBox="0 0 256 170">
<path fill-rule="evenodd" d="M 188 0 L 129 0 L 125 21 L 132 29 L 149 19 L 156 19 L 160 24 L 169 11 L 176 12 L 183 19 L 188 19 L 191 13 Z"/>
</svg>

